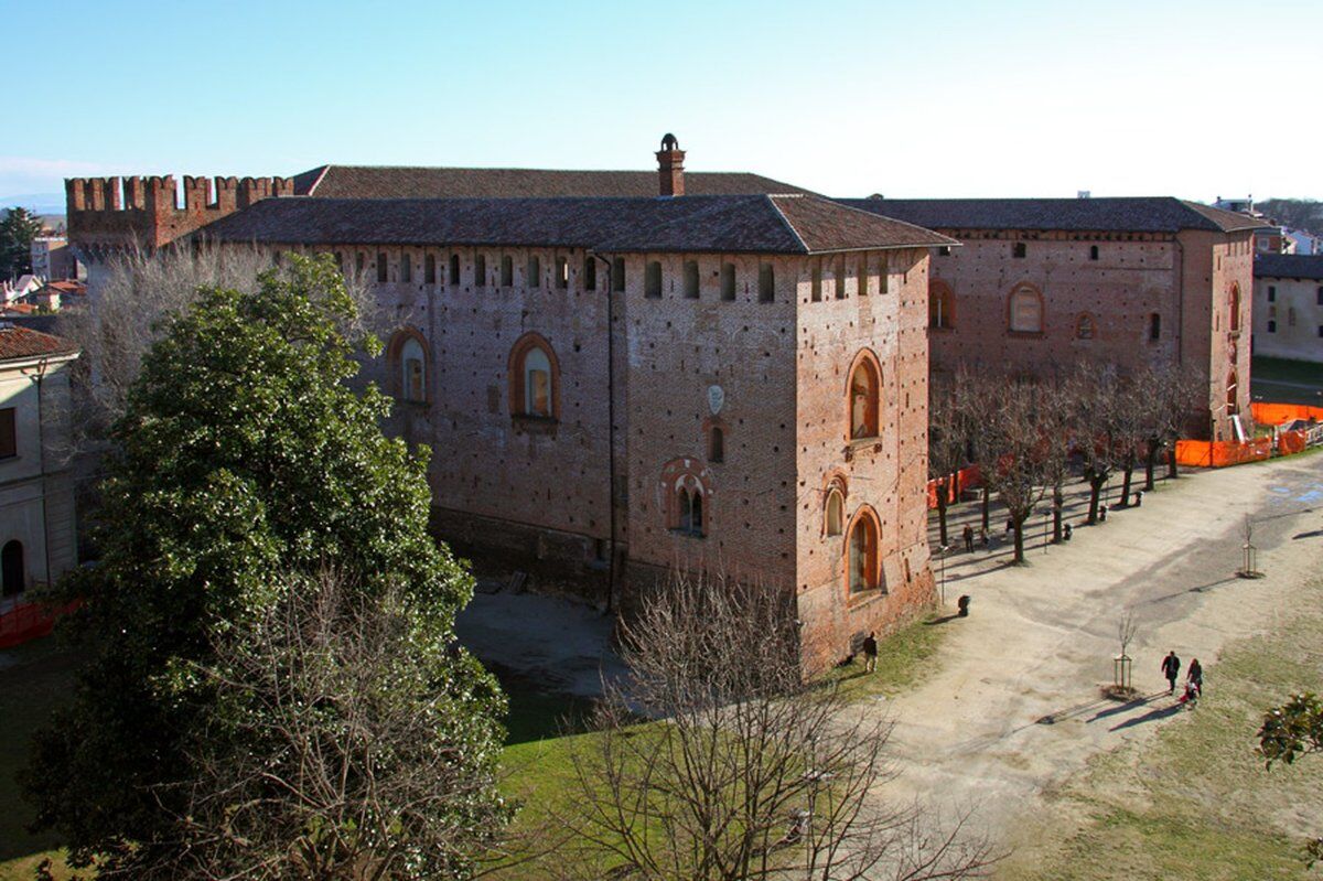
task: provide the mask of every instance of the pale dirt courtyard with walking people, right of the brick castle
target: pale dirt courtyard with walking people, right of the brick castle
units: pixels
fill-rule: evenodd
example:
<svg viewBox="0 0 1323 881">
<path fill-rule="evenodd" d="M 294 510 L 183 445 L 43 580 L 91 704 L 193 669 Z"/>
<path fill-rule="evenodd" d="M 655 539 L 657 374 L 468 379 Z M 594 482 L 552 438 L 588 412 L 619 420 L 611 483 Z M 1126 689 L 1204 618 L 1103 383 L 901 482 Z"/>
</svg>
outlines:
<svg viewBox="0 0 1323 881">
<path fill-rule="evenodd" d="M 953 513 L 960 544 L 978 505 Z M 1078 499 L 1068 515 L 1084 520 Z M 1245 515 L 1259 579 L 1236 577 Z M 947 606 L 968 594 L 971 615 L 937 624 L 951 631 L 937 672 L 877 709 L 894 721 L 890 751 L 901 769 L 885 795 L 946 815 L 972 808 L 975 825 L 1003 844 L 1090 757 L 1143 742 L 1176 717 L 1181 708 L 1159 671 L 1168 650 L 1185 665 L 1197 657 L 1212 693 L 1224 646 L 1291 619 L 1323 558 L 1323 455 L 1166 482 L 1142 507 L 1077 528 L 1065 545 L 1045 549 L 1041 520 L 1029 566 L 1007 566 L 1005 542 L 947 558 Z M 1099 687 L 1113 679 L 1127 610 L 1138 622 L 1130 655 L 1143 697 L 1119 704 L 1102 700 Z"/>
</svg>

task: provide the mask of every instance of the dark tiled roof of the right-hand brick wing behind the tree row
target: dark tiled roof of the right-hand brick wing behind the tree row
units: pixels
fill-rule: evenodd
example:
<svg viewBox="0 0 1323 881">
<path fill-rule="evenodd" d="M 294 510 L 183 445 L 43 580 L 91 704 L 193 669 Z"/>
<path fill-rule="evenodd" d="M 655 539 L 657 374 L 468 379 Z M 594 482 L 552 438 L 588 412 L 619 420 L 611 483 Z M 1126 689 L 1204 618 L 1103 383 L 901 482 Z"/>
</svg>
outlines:
<svg viewBox="0 0 1323 881">
<path fill-rule="evenodd" d="M 1253 217 L 1171 196 L 1134 198 L 843 198 L 929 229 L 1080 230 L 1091 233 L 1175 233 L 1183 229 L 1234 231 L 1263 229 Z"/>
</svg>

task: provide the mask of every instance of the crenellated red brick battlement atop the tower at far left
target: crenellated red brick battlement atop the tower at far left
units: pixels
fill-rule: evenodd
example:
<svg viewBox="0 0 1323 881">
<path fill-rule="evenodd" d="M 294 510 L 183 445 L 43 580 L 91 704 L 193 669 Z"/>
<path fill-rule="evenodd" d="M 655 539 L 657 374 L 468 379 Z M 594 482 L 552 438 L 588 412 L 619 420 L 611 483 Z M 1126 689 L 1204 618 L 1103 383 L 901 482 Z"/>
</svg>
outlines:
<svg viewBox="0 0 1323 881">
<path fill-rule="evenodd" d="M 292 196 L 288 177 L 70 177 L 69 241 L 156 249 L 263 198 Z"/>
</svg>

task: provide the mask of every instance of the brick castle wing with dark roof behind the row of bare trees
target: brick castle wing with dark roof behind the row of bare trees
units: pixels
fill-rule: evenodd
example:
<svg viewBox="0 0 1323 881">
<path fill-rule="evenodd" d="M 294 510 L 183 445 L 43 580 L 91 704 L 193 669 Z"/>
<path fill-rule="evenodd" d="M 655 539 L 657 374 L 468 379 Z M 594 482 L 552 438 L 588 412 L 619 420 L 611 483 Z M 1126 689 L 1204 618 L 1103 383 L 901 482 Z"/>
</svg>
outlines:
<svg viewBox="0 0 1323 881">
<path fill-rule="evenodd" d="M 1170 364 L 1208 389 L 1189 434 L 1236 437 L 1262 221 L 1168 197 L 844 201 L 963 245 L 933 258 L 934 370 Z"/>
</svg>

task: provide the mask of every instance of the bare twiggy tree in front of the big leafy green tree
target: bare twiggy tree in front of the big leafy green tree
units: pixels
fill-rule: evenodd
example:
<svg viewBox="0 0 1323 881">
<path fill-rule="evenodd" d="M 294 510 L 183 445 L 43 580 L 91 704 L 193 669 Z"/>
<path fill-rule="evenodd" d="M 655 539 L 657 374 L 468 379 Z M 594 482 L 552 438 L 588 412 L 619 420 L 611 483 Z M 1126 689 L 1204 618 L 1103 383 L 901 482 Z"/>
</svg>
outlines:
<svg viewBox="0 0 1323 881">
<path fill-rule="evenodd" d="M 229 721 L 194 739 L 179 840 L 140 848 L 130 874 L 466 876 L 509 819 L 482 746 L 493 722 L 475 713 L 495 697 L 446 684 L 476 661 L 419 632 L 402 594 L 365 598 L 331 573 L 277 593 L 213 665 L 181 671 L 217 691 Z"/>
</svg>

